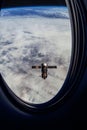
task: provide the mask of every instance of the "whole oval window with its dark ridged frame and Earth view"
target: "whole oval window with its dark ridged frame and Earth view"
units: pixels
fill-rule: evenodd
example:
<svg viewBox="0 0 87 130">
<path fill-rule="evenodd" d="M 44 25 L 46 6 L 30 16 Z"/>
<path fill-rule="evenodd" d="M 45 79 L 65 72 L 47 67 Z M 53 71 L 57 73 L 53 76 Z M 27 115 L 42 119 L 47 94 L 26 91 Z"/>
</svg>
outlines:
<svg viewBox="0 0 87 130">
<path fill-rule="evenodd" d="M 68 9 L 65 4 L 59 6 L 57 3 L 56 6 L 29 4 L 27 7 L 19 7 L 19 1 L 18 7 L 14 2 L 9 6 L 3 3 L 0 87 L 11 103 L 23 111 L 55 110 L 74 93 L 86 68 L 86 19 L 82 2 L 66 0 Z M 37 87 L 33 89 L 30 85 Z M 46 97 L 38 98 L 42 92 Z"/>
</svg>

